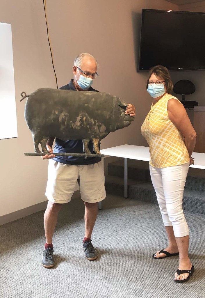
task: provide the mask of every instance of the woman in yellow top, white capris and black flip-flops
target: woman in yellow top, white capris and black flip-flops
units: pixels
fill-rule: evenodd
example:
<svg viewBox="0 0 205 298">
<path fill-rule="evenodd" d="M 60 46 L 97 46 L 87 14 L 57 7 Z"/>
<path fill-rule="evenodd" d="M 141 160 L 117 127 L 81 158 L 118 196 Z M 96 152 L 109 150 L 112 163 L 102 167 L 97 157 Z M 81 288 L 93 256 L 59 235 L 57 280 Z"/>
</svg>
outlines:
<svg viewBox="0 0 205 298">
<path fill-rule="evenodd" d="M 194 266 L 188 257 L 189 228 L 182 209 L 184 185 L 195 147 L 196 133 L 184 106 L 170 93 L 173 83 L 166 67 L 150 69 L 147 92 L 153 97 L 151 110 L 141 127 L 150 147 L 150 175 L 169 239 L 165 249 L 153 254 L 163 259 L 179 254 L 174 281 L 190 279 Z"/>
</svg>

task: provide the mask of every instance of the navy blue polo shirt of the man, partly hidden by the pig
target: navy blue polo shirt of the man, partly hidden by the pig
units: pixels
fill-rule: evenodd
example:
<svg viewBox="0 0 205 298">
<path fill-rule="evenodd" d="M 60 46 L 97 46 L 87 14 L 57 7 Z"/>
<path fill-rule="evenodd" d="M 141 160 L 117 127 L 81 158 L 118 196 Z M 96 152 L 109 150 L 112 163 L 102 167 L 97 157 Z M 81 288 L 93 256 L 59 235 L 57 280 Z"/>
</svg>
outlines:
<svg viewBox="0 0 205 298">
<path fill-rule="evenodd" d="M 73 90 L 77 91 L 75 89 L 75 86 L 73 84 L 73 79 L 70 81 L 69 84 L 60 87 L 60 89 L 63 90 Z M 97 91 L 90 87 L 88 91 Z M 78 91 L 80 92 L 80 91 Z M 93 150 L 93 142 L 90 141 L 88 144 L 88 148 L 91 153 L 95 153 Z M 55 146 L 53 153 L 84 153 L 83 152 L 83 142 L 82 140 L 67 140 L 63 141 L 61 139 L 55 139 Z M 100 162 L 101 157 L 88 157 L 85 158 L 84 156 L 56 156 L 53 158 L 56 162 L 61 162 L 63 164 L 75 164 L 75 165 L 84 165 L 84 164 L 95 164 L 97 162 Z"/>
</svg>

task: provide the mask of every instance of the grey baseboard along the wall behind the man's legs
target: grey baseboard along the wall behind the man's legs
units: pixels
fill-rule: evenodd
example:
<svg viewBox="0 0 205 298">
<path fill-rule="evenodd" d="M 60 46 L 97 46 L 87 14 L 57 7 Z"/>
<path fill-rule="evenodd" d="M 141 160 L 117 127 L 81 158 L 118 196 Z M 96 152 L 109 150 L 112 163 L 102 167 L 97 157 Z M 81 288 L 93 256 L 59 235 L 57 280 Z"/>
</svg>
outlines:
<svg viewBox="0 0 205 298">
<path fill-rule="evenodd" d="M 79 197 L 80 197 L 80 191 L 76 190 L 72 195 L 72 199 L 79 198 Z M 48 200 L 43 201 L 38 204 L 35 204 L 35 205 L 32 205 L 32 206 L 29 206 L 29 207 L 26 207 L 26 208 L 23 208 L 21 210 L 17 210 L 15 212 L 11 212 L 6 215 L 2 215 L 2 216 L 0 216 L 0 226 L 3 224 L 7 224 L 11 221 L 15 221 L 19 218 L 31 215 L 33 213 L 45 210 L 47 207 L 47 204 L 48 204 Z"/>
</svg>

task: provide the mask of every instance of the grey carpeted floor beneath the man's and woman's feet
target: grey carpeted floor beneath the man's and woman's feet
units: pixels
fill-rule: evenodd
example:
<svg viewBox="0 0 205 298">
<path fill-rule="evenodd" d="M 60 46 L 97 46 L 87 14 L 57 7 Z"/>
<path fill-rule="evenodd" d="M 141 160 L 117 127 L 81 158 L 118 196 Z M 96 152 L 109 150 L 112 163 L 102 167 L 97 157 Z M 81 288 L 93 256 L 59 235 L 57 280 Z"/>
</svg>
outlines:
<svg viewBox="0 0 205 298">
<path fill-rule="evenodd" d="M 190 258 L 195 273 L 188 283 L 173 282 L 178 257 L 154 260 L 167 245 L 159 207 L 108 195 L 92 235 L 99 253 L 85 258 L 84 205 L 66 204 L 53 239 L 56 265 L 41 265 L 44 212 L 0 226 L 0 297 L 2 298 L 204 298 L 205 216 L 185 212 L 190 227 Z"/>
</svg>

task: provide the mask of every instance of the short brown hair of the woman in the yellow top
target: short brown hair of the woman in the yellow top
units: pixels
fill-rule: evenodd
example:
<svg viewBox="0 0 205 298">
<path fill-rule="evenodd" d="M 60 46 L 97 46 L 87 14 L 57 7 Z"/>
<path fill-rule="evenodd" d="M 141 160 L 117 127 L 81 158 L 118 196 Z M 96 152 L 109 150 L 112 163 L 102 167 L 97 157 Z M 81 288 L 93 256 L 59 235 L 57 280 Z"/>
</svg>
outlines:
<svg viewBox="0 0 205 298">
<path fill-rule="evenodd" d="M 163 79 L 163 81 L 165 81 L 167 93 L 171 93 L 173 91 L 173 83 L 170 77 L 170 73 L 168 69 L 162 65 L 156 65 L 150 69 L 150 72 L 147 78 L 146 88 L 148 88 L 148 82 L 152 74 L 156 75 L 156 77 L 160 77 L 161 79 Z"/>
</svg>

